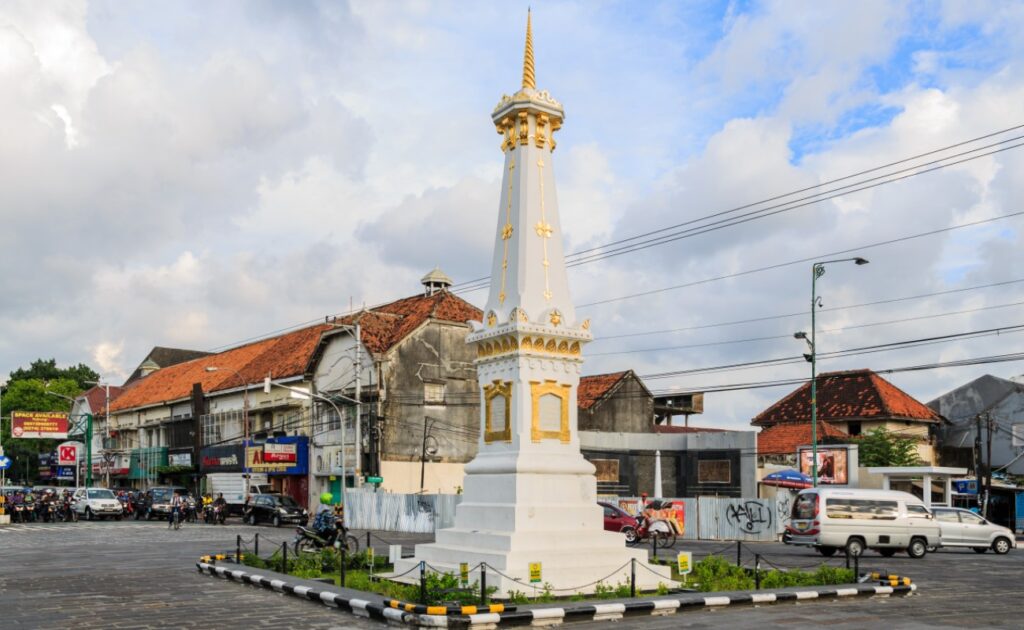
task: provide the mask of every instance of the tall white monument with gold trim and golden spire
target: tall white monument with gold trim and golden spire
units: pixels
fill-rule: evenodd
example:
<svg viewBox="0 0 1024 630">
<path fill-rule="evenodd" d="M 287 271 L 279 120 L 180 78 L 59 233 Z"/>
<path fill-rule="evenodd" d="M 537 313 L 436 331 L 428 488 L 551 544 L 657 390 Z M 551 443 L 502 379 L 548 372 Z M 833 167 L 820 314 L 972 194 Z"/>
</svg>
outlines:
<svg viewBox="0 0 1024 630">
<path fill-rule="evenodd" d="M 627 548 L 622 534 L 604 531 L 594 466 L 580 453 L 577 386 L 593 336 L 577 319 L 562 255 L 552 160 L 562 106 L 537 89 L 528 16 L 522 89 L 503 96 L 492 118 L 505 170 L 490 295 L 466 340 L 481 389 L 479 452 L 466 465 L 455 527 L 417 545 L 395 574 L 421 560 L 456 574 L 462 562 L 486 562 L 487 586 L 501 596 L 529 588 L 499 573 L 528 584 L 540 562 L 542 583 L 593 592 L 598 580 L 627 583 L 636 558 L 638 587 L 671 585 L 668 568 L 647 563 L 646 547 Z"/>
</svg>

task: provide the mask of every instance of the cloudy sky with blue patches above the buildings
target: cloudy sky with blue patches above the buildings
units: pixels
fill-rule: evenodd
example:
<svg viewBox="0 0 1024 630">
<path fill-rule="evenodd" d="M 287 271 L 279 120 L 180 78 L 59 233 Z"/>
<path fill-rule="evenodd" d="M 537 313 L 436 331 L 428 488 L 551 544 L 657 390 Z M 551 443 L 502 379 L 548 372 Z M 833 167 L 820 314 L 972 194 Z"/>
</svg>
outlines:
<svg viewBox="0 0 1024 630">
<path fill-rule="evenodd" d="M 413 295 L 435 265 L 456 283 L 486 276 L 503 158 L 489 114 L 519 87 L 526 7 L 0 4 L 0 374 L 53 356 L 120 382 L 155 345 L 223 348 Z M 571 267 L 597 337 L 585 374 L 798 356 L 810 264 L 833 252 L 870 264 L 818 280 L 819 352 L 1024 325 L 1024 148 L 1008 149 L 1024 129 L 1005 131 L 1024 125 L 1024 3 L 534 0 L 532 27 L 538 87 L 566 113 L 567 252 L 995 132 L 908 164 L 1007 149 Z M 774 268 L 745 272 L 761 267 Z M 764 319 L 778 314 L 794 317 Z M 819 370 L 1022 341 L 1000 330 Z M 1024 362 L 888 378 L 927 402 L 986 373 Z M 808 376 L 786 364 L 645 382 Z M 792 388 L 710 392 L 693 423 L 746 427 Z"/>
</svg>

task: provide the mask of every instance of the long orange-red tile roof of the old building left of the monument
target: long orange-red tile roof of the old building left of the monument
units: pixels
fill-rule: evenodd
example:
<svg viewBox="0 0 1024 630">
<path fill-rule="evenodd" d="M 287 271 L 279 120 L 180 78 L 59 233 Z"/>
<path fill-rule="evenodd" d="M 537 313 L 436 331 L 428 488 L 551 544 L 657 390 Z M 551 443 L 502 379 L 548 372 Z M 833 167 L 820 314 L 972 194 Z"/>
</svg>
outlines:
<svg viewBox="0 0 1024 630">
<path fill-rule="evenodd" d="M 442 291 L 400 299 L 338 322 L 354 324 L 358 321 L 364 345 L 372 352 L 385 352 L 428 320 L 480 321 L 482 314 L 469 302 Z M 299 376 L 305 372 L 321 335 L 332 328 L 332 324 L 317 324 L 162 368 L 127 385 L 117 402 L 111 402 L 111 411 L 179 401 L 191 393 L 194 383 L 200 383 L 203 391 L 211 392 L 245 383 L 258 384 L 267 375 L 275 379 Z M 218 370 L 208 372 L 208 367 Z"/>
</svg>

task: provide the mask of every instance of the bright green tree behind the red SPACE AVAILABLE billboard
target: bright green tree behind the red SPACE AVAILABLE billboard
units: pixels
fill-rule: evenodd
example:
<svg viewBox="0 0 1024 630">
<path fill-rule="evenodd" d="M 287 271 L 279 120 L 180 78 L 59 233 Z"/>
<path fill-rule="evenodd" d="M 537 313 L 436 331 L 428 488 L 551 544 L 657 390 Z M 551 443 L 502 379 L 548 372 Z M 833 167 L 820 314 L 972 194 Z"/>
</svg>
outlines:
<svg viewBox="0 0 1024 630">
<path fill-rule="evenodd" d="M 40 379 L 20 379 L 7 384 L 0 406 L 4 416 L 12 411 L 68 411 L 71 403 L 46 393 L 47 390 L 74 398 L 81 391 L 79 384 L 70 378 L 58 378 L 48 383 Z M 5 455 L 11 459 L 7 476 L 32 484 L 39 477 L 39 454 L 50 453 L 56 439 L 15 439 L 11 437 L 10 422 L 0 422 Z"/>
</svg>

